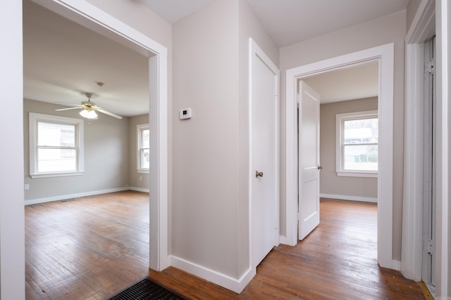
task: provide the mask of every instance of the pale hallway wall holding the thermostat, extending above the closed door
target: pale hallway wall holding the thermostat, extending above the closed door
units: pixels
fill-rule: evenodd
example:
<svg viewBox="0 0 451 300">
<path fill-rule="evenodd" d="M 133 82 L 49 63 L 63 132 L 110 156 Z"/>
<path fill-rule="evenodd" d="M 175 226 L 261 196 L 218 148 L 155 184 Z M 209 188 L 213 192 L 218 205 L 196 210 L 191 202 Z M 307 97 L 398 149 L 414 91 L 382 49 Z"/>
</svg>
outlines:
<svg viewBox="0 0 451 300">
<path fill-rule="evenodd" d="M 244 0 L 173 25 L 172 114 L 192 107 L 192 119 L 173 122 L 171 254 L 235 280 L 250 266 L 249 37 L 277 63 Z"/>
</svg>

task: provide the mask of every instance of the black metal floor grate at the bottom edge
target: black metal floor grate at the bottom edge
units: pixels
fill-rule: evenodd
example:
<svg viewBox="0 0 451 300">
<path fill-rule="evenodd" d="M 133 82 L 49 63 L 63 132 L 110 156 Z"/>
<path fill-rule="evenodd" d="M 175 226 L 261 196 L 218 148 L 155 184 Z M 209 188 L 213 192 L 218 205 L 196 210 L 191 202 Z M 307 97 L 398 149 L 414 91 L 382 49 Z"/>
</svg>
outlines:
<svg viewBox="0 0 451 300">
<path fill-rule="evenodd" d="M 185 300 L 185 298 L 161 287 L 149 278 L 144 278 L 109 300 Z"/>
</svg>

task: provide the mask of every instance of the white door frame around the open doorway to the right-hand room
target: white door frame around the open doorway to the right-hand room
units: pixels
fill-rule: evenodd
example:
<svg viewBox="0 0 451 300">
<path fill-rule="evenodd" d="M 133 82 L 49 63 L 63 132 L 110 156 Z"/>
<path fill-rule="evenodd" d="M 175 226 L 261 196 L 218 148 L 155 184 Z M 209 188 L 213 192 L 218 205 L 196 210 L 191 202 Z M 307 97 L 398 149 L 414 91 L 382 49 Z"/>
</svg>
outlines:
<svg viewBox="0 0 451 300">
<path fill-rule="evenodd" d="M 378 257 L 384 268 L 399 269 L 393 261 L 393 78 L 394 44 L 385 44 L 286 72 L 286 236 L 283 242 L 297 244 L 297 80 L 370 61 L 379 62 L 379 149 L 378 149 Z"/>
</svg>

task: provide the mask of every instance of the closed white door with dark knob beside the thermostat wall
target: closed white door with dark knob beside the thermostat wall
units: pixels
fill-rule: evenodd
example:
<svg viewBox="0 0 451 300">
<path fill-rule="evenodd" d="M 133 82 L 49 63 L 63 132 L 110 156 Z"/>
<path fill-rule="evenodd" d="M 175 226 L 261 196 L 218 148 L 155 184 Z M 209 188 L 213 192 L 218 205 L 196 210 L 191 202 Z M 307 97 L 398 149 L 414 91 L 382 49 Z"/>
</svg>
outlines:
<svg viewBox="0 0 451 300">
<path fill-rule="evenodd" d="M 251 49 L 251 259 L 257 267 L 278 234 L 278 70 L 257 44 Z"/>
</svg>

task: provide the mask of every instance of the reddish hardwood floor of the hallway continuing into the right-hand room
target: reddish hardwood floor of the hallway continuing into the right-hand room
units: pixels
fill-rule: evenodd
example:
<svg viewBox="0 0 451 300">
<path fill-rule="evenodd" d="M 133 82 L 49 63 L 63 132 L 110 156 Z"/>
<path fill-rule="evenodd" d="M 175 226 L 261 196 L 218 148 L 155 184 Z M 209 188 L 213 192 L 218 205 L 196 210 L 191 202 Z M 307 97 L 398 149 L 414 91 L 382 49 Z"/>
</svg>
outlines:
<svg viewBox="0 0 451 300">
<path fill-rule="evenodd" d="M 319 227 L 273 249 L 241 294 L 176 268 L 149 277 L 189 299 L 424 299 L 416 282 L 378 267 L 376 215 L 375 204 L 323 199 Z"/>
</svg>

